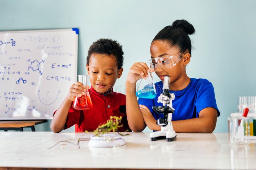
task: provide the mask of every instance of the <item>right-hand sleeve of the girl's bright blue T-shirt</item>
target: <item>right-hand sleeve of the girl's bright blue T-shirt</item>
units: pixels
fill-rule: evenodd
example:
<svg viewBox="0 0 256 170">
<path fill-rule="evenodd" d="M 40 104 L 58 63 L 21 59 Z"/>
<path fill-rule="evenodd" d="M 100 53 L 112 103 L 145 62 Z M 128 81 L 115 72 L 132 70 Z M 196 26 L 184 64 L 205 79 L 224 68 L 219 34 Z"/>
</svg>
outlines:
<svg viewBox="0 0 256 170">
<path fill-rule="evenodd" d="M 207 81 L 201 85 L 196 94 L 196 114 L 199 116 L 199 112 L 204 108 L 212 107 L 217 110 L 218 117 L 220 111 L 217 107 L 215 100 L 214 88 L 210 81 Z"/>
</svg>

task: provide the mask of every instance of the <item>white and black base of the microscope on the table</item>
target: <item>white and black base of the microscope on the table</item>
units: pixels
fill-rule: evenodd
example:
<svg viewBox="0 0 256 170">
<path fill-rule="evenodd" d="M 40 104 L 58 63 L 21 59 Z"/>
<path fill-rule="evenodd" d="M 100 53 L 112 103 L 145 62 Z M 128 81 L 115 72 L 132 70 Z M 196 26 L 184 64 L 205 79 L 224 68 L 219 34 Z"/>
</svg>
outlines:
<svg viewBox="0 0 256 170">
<path fill-rule="evenodd" d="M 150 133 L 151 141 L 156 141 L 159 139 L 166 139 L 167 142 L 171 142 L 176 140 L 176 133 L 175 131 L 155 131 Z"/>
</svg>

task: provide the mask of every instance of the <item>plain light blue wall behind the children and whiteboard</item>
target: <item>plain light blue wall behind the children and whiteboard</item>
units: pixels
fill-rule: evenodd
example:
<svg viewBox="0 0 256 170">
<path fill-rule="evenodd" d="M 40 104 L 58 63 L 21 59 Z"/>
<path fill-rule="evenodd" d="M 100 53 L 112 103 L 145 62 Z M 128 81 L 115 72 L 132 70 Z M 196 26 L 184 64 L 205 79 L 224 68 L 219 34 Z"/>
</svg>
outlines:
<svg viewBox="0 0 256 170">
<path fill-rule="evenodd" d="M 78 27 L 78 74 L 86 74 L 93 41 L 116 39 L 124 50 L 124 73 L 116 84 L 124 85 L 132 64 L 150 56 L 156 33 L 186 19 L 196 30 L 188 76 L 212 82 L 221 113 L 215 132 L 227 132 L 237 96 L 256 96 L 255 6 L 254 0 L 0 0 L 0 30 Z M 118 91 L 124 93 L 124 86 Z M 36 131 L 50 131 L 49 126 L 36 125 Z"/>
</svg>

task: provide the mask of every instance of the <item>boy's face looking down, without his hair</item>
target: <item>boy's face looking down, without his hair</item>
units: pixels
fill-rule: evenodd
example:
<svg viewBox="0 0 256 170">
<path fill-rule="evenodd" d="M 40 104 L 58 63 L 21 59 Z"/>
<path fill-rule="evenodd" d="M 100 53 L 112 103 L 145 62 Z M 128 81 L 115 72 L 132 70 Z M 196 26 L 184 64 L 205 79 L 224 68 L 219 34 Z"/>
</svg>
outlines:
<svg viewBox="0 0 256 170">
<path fill-rule="evenodd" d="M 118 70 L 115 56 L 108 54 L 92 53 L 86 67 L 92 87 L 98 93 L 111 91 L 123 72 L 123 68 Z"/>
</svg>

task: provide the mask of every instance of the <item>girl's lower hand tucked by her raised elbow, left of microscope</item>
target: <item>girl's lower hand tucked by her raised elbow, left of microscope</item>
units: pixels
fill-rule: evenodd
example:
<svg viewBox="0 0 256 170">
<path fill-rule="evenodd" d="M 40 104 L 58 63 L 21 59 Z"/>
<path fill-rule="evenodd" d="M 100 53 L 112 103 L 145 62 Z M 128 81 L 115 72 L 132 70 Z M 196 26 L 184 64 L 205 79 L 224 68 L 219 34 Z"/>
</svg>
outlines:
<svg viewBox="0 0 256 170">
<path fill-rule="evenodd" d="M 140 106 L 140 110 L 141 110 L 144 122 L 145 124 L 147 124 L 148 128 L 151 129 L 152 131 L 159 130 L 159 126 L 156 124 L 156 119 L 153 117 L 148 107 L 142 104 L 140 104 L 139 106 Z"/>
</svg>

